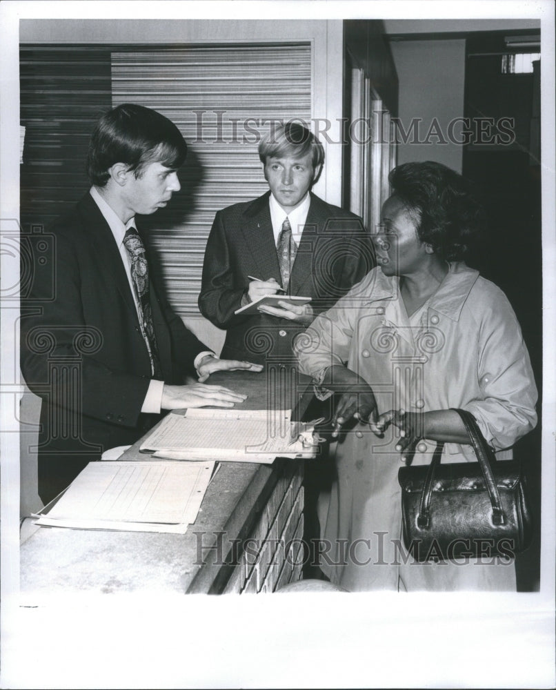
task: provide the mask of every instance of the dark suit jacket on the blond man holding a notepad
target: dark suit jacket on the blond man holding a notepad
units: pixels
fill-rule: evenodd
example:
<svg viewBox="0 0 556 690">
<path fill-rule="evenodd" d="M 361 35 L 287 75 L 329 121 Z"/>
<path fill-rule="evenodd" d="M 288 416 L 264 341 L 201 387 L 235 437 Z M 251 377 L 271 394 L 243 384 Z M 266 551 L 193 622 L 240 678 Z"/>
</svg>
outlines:
<svg viewBox="0 0 556 690">
<path fill-rule="evenodd" d="M 270 192 L 220 210 L 212 224 L 203 265 L 199 309 L 226 328 L 222 357 L 264 362 L 292 359 L 292 340 L 306 329 L 288 319 L 234 312 L 248 290 L 248 275 L 281 282 Z M 289 291 L 312 297 L 315 316 L 330 308 L 375 266 L 373 246 L 361 219 L 311 193 Z"/>
</svg>

